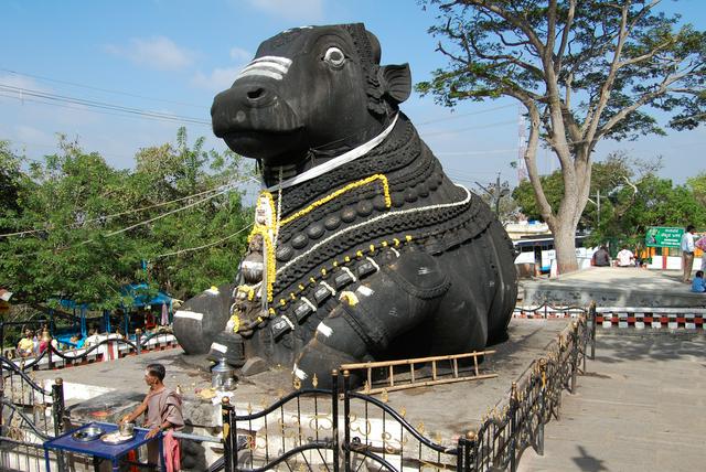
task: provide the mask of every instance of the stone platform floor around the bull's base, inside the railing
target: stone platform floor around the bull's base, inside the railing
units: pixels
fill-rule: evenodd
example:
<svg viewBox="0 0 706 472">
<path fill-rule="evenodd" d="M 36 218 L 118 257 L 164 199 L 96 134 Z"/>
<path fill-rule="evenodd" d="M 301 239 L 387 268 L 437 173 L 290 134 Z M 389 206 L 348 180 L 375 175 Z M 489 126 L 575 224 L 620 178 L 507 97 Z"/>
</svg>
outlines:
<svg viewBox="0 0 706 472">
<path fill-rule="evenodd" d="M 389 405 L 407 411 L 413 425 L 424 423 L 426 431 L 438 432 L 449 441 L 459 433 L 478 426 L 479 419 L 500 400 L 509 395 L 513 380 L 517 379 L 532 361 L 544 355 L 548 344 L 569 324 L 569 320 L 522 320 L 513 319 L 509 328 L 509 340 L 489 348 L 496 354 L 488 356 L 481 364 L 484 373 L 499 374 L 495 378 L 461 382 L 435 387 L 414 388 L 389 393 Z M 208 362 L 205 358 L 185 358 L 183 351 L 171 348 L 162 352 L 125 357 L 114 362 L 96 363 L 60 371 L 38 371 L 38 379 L 62 377 L 65 383 L 107 387 L 110 389 L 92 400 L 69 400 L 76 412 L 81 409 L 116 411 L 108 420 L 116 419 L 126 409 L 141 400 L 147 387 L 142 378 L 145 367 L 152 362 L 161 362 L 167 367 L 167 385 L 181 385 L 184 394 L 184 414 L 195 426 L 214 426 L 218 409 L 210 400 L 200 399 L 195 393 L 210 386 Z M 282 391 L 291 389 L 291 374 L 288 368 L 275 367 L 266 373 L 242 378 L 234 391 L 233 401 L 245 409 L 252 404 L 258 411 L 263 405 L 270 405 Z M 362 407 L 362 406 L 357 406 Z M 353 405 L 355 410 L 356 405 Z M 329 409 L 329 407 L 327 407 Z M 82 416 L 78 412 L 78 416 Z M 86 416 L 84 419 L 94 419 Z"/>
</svg>

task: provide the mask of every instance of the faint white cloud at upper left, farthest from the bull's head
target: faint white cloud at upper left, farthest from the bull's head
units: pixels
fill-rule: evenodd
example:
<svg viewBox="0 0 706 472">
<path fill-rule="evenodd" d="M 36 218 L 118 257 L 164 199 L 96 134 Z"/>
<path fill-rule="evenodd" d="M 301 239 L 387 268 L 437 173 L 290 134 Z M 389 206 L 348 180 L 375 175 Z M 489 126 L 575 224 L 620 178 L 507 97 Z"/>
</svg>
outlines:
<svg viewBox="0 0 706 472">
<path fill-rule="evenodd" d="M 135 37 L 128 46 L 107 45 L 110 54 L 127 57 L 136 64 L 162 71 L 174 71 L 193 64 L 196 54 L 185 47 L 178 46 L 165 36 L 150 39 Z"/>
</svg>

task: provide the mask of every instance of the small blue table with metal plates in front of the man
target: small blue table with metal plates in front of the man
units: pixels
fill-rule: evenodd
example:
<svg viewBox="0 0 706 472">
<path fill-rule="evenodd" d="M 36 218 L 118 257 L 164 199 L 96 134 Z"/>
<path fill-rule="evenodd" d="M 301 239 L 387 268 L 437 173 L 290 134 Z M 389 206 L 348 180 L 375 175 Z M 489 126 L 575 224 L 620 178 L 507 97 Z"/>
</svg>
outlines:
<svg viewBox="0 0 706 472">
<path fill-rule="evenodd" d="M 113 470 L 115 472 L 118 471 L 118 461 L 121 457 L 130 452 L 132 449 L 137 449 L 142 444 L 146 444 L 150 441 L 158 440 L 159 441 L 159 457 L 163 458 L 163 446 L 162 446 L 162 433 L 159 432 L 153 438 L 147 439 L 145 435 L 149 431 L 145 428 L 135 428 L 135 438 L 131 441 L 125 442 L 122 444 L 106 444 L 100 439 L 96 439 L 88 442 L 77 441 L 72 438 L 72 435 L 76 431 L 81 431 L 82 429 L 96 426 L 105 431 L 105 433 L 114 432 L 118 430 L 117 425 L 111 425 L 107 422 L 92 422 L 88 425 L 84 425 L 81 428 L 76 428 L 68 432 L 65 432 L 62 436 L 58 436 L 50 441 L 44 442 L 44 460 L 46 461 L 46 472 L 51 472 L 51 465 L 49 460 L 49 451 L 50 449 L 54 449 L 56 451 L 69 451 L 69 452 L 78 452 L 81 454 L 92 455 L 94 458 L 94 464 L 96 464 L 96 458 L 107 459 L 113 462 Z M 163 464 L 162 460 L 162 464 Z M 162 465 L 163 470 L 163 465 Z"/>
</svg>

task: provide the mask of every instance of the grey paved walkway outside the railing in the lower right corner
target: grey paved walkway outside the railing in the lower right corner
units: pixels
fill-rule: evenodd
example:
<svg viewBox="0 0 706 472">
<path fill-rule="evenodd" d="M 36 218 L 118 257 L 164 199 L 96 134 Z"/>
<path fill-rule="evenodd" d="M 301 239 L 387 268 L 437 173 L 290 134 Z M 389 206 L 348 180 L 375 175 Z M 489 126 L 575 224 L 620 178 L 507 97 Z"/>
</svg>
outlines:
<svg viewBox="0 0 706 472">
<path fill-rule="evenodd" d="M 706 470 L 703 333 L 601 335 L 588 371 L 520 471 Z"/>
</svg>

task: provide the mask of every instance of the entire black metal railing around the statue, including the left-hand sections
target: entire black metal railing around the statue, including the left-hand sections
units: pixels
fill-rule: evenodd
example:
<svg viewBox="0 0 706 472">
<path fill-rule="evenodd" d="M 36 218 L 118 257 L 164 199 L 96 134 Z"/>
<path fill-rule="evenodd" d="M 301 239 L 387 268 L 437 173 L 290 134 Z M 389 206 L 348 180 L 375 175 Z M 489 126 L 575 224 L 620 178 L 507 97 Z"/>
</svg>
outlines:
<svg viewBox="0 0 706 472">
<path fill-rule="evenodd" d="M 546 355 L 535 360 L 512 384 L 507 397 L 481 419 L 475 430 L 464 432 L 458 440 L 431 438 L 424 425 L 413 426 L 405 411 L 392 408 L 386 393 L 377 398 L 355 391 L 350 374 L 343 372 L 339 376 L 334 371 L 333 388 L 317 388 L 315 382 L 313 388 L 295 385 L 295 391 L 256 412 L 249 405 L 236 411 L 224 399 L 224 454 L 207 470 L 515 471 L 527 448 L 544 452 L 545 423 L 559 418 L 563 393 L 576 390 L 577 376 L 586 372 L 589 345 L 591 356 L 595 353 L 595 305 L 581 313 L 573 308 L 571 313 L 575 320 Z M 73 362 L 95 354 L 109 342 L 126 345 L 137 354 L 153 336 L 138 337 L 139 342 L 106 340 L 78 356 L 50 346 L 43 355 L 56 355 L 56 362 L 71 357 Z M 41 470 L 42 441 L 63 431 L 63 384 L 57 379 L 51 388 L 38 385 L 30 372 L 40 365 L 38 362 L 18 365 L 0 356 L 0 409 L 6 409 L 4 414 L 0 411 L 0 418 L 9 419 L 0 423 L 0 470 Z M 84 459 L 53 454 L 51 460 L 58 470 L 66 470 L 67 461 Z"/>
</svg>

